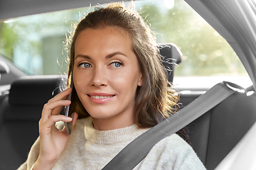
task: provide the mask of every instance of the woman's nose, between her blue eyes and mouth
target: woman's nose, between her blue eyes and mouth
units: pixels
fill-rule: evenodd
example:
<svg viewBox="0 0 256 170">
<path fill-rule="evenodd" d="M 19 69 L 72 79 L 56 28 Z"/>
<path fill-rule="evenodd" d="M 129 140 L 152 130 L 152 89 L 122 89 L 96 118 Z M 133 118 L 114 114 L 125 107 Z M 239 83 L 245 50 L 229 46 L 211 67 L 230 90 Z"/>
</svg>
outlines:
<svg viewBox="0 0 256 170">
<path fill-rule="evenodd" d="M 107 70 L 104 67 L 95 67 L 92 76 L 92 86 L 107 86 Z"/>
</svg>

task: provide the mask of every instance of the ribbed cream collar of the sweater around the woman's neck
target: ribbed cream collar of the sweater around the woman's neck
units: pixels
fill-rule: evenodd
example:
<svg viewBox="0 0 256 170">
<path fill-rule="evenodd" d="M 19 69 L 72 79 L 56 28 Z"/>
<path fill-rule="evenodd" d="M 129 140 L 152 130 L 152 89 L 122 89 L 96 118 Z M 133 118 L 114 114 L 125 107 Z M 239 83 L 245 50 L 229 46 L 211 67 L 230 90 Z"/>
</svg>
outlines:
<svg viewBox="0 0 256 170">
<path fill-rule="evenodd" d="M 138 128 L 137 125 L 131 125 L 126 128 L 115 130 L 95 130 L 92 125 L 92 118 L 85 119 L 85 138 L 87 141 L 100 144 L 112 144 L 133 140 L 149 128 Z"/>
</svg>

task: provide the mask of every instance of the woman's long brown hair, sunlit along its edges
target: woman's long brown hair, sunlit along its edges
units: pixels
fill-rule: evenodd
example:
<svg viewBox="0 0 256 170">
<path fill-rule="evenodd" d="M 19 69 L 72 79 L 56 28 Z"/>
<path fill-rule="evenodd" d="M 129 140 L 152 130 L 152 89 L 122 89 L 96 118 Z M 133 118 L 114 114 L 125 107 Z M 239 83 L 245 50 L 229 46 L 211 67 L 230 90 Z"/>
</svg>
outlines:
<svg viewBox="0 0 256 170">
<path fill-rule="evenodd" d="M 168 86 L 166 69 L 161 62 L 154 34 L 151 33 L 149 26 L 139 16 L 139 13 L 124 8 L 124 4 L 114 3 L 107 7 L 96 6 L 95 11 L 87 13 L 87 16 L 82 18 L 74 28 L 68 38 L 70 45 L 68 86 L 74 67 L 75 40 L 79 33 L 87 28 L 106 27 L 127 31 L 131 37 L 132 50 L 137 55 L 143 79 L 142 86 L 137 87 L 134 122 L 142 128 L 153 127 L 173 113 L 177 98 Z M 73 96 L 75 97 L 72 102 L 76 103 L 73 110 L 78 113 L 79 118 L 87 117 L 89 114 L 82 106 L 75 88 Z"/>
</svg>

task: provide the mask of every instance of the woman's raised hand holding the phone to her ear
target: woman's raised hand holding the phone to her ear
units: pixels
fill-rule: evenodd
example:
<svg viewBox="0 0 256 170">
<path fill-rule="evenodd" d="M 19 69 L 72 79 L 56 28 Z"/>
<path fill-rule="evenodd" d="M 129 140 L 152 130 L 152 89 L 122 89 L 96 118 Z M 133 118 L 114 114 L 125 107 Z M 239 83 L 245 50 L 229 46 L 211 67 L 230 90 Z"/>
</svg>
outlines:
<svg viewBox="0 0 256 170">
<path fill-rule="evenodd" d="M 73 125 L 75 125 L 78 113 L 73 113 L 72 118 L 59 115 L 63 106 L 70 105 L 71 101 L 68 101 L 67 98 L 71 91 L 71 88 L 62 91 L 43 106 L 42 117 L 39 121 L 40 154 L 34 165 L 34 170 L 52 169 L 68 142 L 70 135 L 65 128 L 58 130 L 55 123 L 58 121 L 68 123 L 73 120 Z"/>
</svg>

